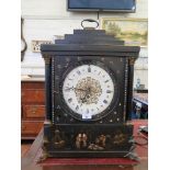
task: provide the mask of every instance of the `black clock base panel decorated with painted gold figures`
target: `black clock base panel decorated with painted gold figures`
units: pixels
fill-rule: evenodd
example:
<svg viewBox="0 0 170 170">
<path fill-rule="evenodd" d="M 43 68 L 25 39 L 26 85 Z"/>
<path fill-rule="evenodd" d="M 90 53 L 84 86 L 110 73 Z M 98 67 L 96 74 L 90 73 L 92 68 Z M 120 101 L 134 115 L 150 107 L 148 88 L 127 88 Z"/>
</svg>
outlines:
<svg viewBox="0 0 170 170">
<path fill-rule="evenodd" d="M 44 136 L 48 157 L 125 157 L 133 146 L 133 125 L 58 124 L 45 127 Z"/>
</svg>

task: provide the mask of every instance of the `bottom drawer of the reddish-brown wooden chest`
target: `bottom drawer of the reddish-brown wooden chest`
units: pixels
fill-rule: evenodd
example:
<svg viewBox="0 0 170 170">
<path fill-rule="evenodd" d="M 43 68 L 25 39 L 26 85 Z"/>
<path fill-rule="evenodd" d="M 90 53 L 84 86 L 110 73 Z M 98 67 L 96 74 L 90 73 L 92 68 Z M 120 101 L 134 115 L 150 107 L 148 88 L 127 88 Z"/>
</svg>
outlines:
<svg viewBox="0 0 170 170">
<path fill-rule="evenodd" d="M 36 136 L 39 131 L 43 127 L 43 121 L 39 122 L 31 122 L 31 121 L 23 121 L 22 125 L 21 125 L 21 134 L 23 135 L 32 135 L 32 136 Z"/>
</svg>

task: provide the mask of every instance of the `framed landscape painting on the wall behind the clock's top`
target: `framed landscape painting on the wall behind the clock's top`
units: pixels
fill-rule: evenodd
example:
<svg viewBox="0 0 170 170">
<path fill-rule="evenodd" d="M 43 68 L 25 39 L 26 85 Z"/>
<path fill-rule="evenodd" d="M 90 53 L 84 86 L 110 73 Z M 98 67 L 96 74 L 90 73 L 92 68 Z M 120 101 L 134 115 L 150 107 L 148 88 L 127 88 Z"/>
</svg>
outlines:
<svg viewBox="0 0 170 170">
<path fill-rule="evenodd" d="M 103 18 L 101 29 L 105 30 L 107 34 L 125 41 L 126 45 L 147 46 L 147 19 Z"/>
</svg>

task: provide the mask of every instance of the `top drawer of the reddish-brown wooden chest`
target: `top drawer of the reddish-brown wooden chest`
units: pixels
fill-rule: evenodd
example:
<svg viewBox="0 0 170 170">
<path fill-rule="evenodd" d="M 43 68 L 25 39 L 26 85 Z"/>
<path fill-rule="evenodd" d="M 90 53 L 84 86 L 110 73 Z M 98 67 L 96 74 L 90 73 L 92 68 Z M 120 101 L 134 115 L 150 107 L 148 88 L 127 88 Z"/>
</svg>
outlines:
<svg viewBox="0 0 170 170">
<path fill-rule="evenodd" d="M 45 103 L 45 90 L 22 90 L 22 103 Z"/>
</svg>

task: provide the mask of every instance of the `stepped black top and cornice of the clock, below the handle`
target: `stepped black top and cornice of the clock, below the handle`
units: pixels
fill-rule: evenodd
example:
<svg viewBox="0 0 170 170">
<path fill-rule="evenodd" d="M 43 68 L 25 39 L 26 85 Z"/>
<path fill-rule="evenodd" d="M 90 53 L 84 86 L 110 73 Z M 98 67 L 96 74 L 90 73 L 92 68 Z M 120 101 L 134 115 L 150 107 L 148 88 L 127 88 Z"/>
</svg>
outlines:
<svg viewBox="0 0 170 170">
<path fill-rule="evenodd" d="M 83 29 L 73 30 L 73 34 L 65 34 L 64 39 L 56 39 L 55 44 L 42 44 L 42 53 L 56 52 L 56 55 L 89 55 L 88 52 L 95 55 L 116 55 L 124 57 L 136 57 L 139 53 L 138 46 L 125 46 L 124 41 L 121 41 L 113 35 L 107 35 L 104 30 Z"/>
</svg>

